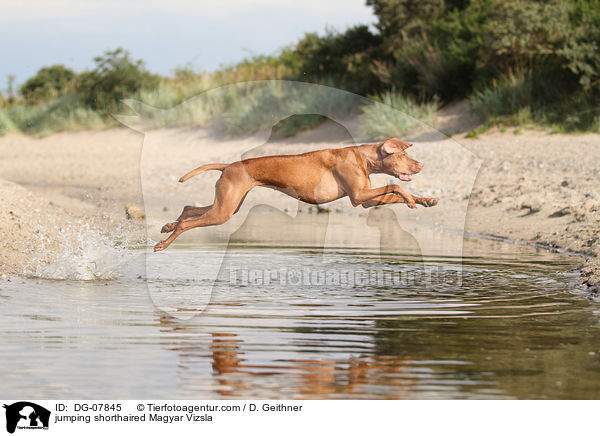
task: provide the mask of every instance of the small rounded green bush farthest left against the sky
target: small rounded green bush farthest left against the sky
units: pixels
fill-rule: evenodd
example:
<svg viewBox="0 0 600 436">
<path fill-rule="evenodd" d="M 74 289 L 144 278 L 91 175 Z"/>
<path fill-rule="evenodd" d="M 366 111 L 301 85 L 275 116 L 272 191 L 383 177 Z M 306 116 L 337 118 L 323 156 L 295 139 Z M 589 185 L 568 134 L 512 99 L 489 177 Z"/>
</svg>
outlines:
<svg viewBox="0 0 600 436">
<path fill-rule="evenodd" d="M 56 98 L 72 90 L 75 73 L 64 65 L 40 69 L 21 86 L 21 95 L 28 104 Z"/>
</svg>

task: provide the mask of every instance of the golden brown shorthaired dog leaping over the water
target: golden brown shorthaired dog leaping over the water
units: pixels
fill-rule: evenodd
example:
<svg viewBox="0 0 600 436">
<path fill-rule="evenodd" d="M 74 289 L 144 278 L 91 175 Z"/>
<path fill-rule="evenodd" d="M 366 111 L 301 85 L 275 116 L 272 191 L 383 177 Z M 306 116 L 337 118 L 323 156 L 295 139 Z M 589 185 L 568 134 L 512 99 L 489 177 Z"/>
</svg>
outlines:
<svg viewBox="0 0 600 436">
<path fill-rule="evenodd" d="M 398 185 L 372 188 L 369 175 L 384 173 L 410 181 L 423 164 L 406 154 L 412 144 L 396 138 L 352 147 L 311 151 L 298 155 L 264 156 L 232 164 L 208 164 L 184 175 L 180 182 L 208 170 L 223 174 L 215 186 L 211 206 L 186 206 L 177 221 L 165 224 L 173 232 L 154 247 L 167 248 L 181 233 L 194 227 L 223 224 L 236 213 L 255 186 L 266 186 L 310 204 L 323 204 L 348 196 L 353 206 L 373 207 L 406 203 L 415 208 L 435 206 L 437 198 L 416 197 Z"/>
</svg>

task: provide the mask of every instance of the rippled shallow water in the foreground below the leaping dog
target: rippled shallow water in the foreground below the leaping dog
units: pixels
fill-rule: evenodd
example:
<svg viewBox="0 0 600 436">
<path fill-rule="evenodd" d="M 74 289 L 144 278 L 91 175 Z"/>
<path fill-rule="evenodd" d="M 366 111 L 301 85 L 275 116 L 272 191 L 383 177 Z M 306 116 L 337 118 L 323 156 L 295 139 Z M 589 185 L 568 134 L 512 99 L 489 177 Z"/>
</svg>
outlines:
<svg viewBox="0 0 600 436">
<path fill-rule="evenodd" d="M 221 249 L 165 253 L 185 269 Z M 363 249 L 231 246 L 209 306 L 184 321 L 156 304 L 167 295 L 170 310 L 193 315 L 194 295 L 209 285 L 185 279 L 183 270 L 161 271 L 161 262 L 152 264 L 155 278 L 144 279 L 142 251 L 112 280 L 1 282 L 2 392 L 7 398 L 600 398 L 600 307 L 569 272 L 579 260 L 500 243 L 472 243 L 467 252 L 459 284 L 327 284 L 318 274 L 308 283 L 275 277 L 265 284 L 264 276 L 245 279 L 239 268 L 283 268 L 295 277 L 307 270 L 335 276 L 423 266 L 408 254 Z M 461 266 L 452 257 L 424 263 L 450 271 Z"/>
</svg>

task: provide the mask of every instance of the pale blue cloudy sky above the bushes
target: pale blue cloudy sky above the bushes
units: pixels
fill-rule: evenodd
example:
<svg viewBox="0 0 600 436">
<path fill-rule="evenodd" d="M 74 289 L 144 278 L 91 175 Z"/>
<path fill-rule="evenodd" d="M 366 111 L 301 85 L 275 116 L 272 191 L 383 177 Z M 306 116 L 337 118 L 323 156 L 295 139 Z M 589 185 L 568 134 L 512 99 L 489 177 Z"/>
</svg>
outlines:
<svg viewBox="0 0 600 436">
<path fill-rule="evenodd" d="M 0 0 L 0 89 L 41 67 L 75 71 L 116 47 L 168 75 L 276 54 L 306 32 L 373 24 L 365 0 Z"/>
</svg>

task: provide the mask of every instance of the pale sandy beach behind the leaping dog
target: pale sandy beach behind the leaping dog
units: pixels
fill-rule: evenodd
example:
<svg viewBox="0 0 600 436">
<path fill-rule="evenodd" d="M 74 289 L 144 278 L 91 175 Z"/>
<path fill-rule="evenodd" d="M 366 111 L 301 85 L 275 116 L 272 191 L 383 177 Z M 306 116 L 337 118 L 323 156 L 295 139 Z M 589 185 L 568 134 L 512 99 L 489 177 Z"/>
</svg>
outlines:
<svg viewBox="0 0 600 436">
<path fill-rule="evenodd" d="M 156 240 L 163 217 L 146 213 L 145 220 L 144 208 L 160 210 L 164 217 L 177 216 L 172 192 L 175 174 L 196 164 L 234 160 L 239 150 L 247 150 L 244 156 L 250 156 L 348 145 L 347 138 L 338 133 L 335 126 L 323 125 L 258 148 L 252 144 L 264 138 L 217 141 L 209 128 L 163 129 L 146 137 L 125 128 L 41 139 L 17 134 L 1 137 L 0 274 L 3 278 L 22 274 L 32 259 L 51 263 L 71 230 L 82 225 L 127 244 L 143 244 L 148 228 Z M 600 283 L 599 145 L 599 134 L 511 129 L 478 138 L 458 133 L 448 139 L 416 141 L 409 154 L 424 162 L 425 168 L 408 190 L 435 195 L 444 207 L 414 212 L 397 205 L 394 211 L 400 217 L 416 213 L 442 230 L 461 230 L 453 228 L 461 220 L 449 217 L 466 210 L 466 234 L 580 254 L 582 281 L 595 291 Z M 462 147 L 466 157 L 447 152 L 451 147 Z M 473 167 L 476 160 L 481 167 L 478 172 L 472 168 L 476 179 L 471 189 L 464 168 Z M 211 173 L 195 184 L 179 185 L 179 192 L 191 204 L 204 204 L 212 198 L 217 177 Z M 375 177 L 374 184 L 388 179 Z M 144 198 L 143 191 L 151 192 L 152 198 Z M 276 194 L 260 190 L 252 194 L 249 204 L 268 204 Z M 283 205 L 292 204 L 285 201 L 297 203 L 282 201 Z M 298 207 L 300 212 L 309 211 L 308 205 Z M 327 208 L 341 215 L 366 213 L 362 208 L 353 210 L 347 199 Z"/>
</svg>

